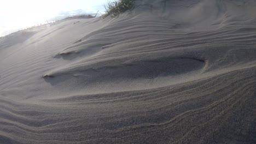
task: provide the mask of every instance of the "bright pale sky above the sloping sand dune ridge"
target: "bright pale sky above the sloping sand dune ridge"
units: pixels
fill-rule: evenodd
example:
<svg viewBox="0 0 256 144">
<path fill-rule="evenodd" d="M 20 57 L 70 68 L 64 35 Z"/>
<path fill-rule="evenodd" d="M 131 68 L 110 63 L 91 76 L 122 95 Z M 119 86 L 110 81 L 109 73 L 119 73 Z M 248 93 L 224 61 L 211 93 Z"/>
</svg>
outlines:
<svg viewBox="0 0 256 144">
<path fill-rule="evenodd" d="M 108 0 L 0 0 L 0 37 L 72 14 L 104 13 Z"/>
</svg>

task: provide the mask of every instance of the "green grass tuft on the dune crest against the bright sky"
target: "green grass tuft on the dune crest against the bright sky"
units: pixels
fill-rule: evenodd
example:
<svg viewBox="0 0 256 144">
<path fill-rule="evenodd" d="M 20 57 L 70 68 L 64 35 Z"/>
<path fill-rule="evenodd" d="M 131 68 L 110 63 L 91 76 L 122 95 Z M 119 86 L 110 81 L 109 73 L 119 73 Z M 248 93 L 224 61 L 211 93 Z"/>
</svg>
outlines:
<svg viewBox="0 0 256 144">
<path fill-rule="evenodd" d="M 115 0 L 108 1 L 107 5 L 104 4 L 104 8 L 106 9 L 106 14 L 103 17 L 111 16 L 115 17 L 121 13 L 124 13 L 127 10 L 132 9 L 133 0 Z"/>
</svg>

